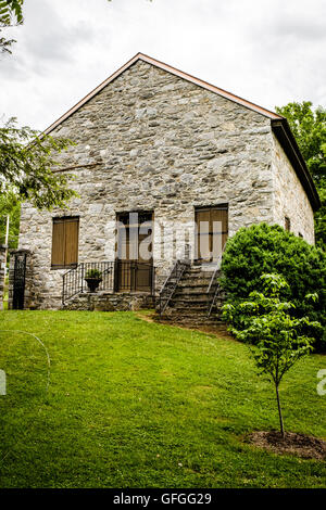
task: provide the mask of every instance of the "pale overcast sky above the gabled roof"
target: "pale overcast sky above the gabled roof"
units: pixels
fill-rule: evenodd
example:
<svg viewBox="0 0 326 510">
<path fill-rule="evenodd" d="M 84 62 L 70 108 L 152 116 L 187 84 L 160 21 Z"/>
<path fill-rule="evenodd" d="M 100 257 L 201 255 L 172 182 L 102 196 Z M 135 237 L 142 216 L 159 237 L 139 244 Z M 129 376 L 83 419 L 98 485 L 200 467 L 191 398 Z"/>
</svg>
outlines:
<svg viewBox="0 0 326 510">
<path fill-rule="evenodd" d="M 325 0 L 25 0 L 0 115 L 45 129 L 138 51 L 274 110 L 326 105 Z"/>
</svg>

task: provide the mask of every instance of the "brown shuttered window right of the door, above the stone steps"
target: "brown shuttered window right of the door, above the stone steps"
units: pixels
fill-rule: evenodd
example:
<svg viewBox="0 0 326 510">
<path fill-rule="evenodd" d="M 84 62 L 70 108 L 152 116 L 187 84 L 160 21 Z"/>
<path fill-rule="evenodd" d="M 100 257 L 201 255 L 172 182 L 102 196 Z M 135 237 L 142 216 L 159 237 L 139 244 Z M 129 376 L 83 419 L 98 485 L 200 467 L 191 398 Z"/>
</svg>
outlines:
<svg viewBox="0 0 326 510">
<path fill-rule="evenodd" d="M 221 256 L 228 234 L 227 205 L 196 209 L 196 258 L 214 262 Z"/>
</svg>

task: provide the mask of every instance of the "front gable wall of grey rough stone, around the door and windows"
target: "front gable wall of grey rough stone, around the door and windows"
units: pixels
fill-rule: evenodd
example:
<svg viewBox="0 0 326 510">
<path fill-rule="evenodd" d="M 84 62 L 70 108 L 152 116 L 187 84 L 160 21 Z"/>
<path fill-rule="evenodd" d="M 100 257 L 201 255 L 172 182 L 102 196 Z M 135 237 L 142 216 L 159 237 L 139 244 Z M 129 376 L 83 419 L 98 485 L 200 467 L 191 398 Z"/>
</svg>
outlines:
<svg viewBox="0 0 326 510">
<path fill-rule="evenodd" d="M 269 119 L 142 61 L 52 135 L 76 143 L 59 161 L 78 166 L 80 197 L 52 213 L 22 207 L 20 247 L 33 251 L 35 307 L 61 305 L 65 271 L 50 268 L 55 216 L 79 216 L 79 262 L 101 262 L 114 259 L 116 213 L 153 211 L 156 288 L 185 244 L 193 254 L 196 206 L 227 203 L 229 235 L 253 222 L 284 225 L 273 207 Z"/>
</svg>

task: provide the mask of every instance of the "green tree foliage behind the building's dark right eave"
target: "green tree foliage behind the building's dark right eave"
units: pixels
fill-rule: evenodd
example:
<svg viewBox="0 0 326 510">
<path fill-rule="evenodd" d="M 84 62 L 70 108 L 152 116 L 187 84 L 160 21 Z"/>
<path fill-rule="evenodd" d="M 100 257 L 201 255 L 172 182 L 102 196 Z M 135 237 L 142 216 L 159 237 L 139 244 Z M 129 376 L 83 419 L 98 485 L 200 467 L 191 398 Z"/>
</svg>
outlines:
<svg viewBox="0 0 326 510">
<path fill-rule="evenodd" d="M 316 243 L 326 247 L 326 110 L 313 110 L 311 101 L 288 103 L 276 112 L 288 119 L 306 166 L 319 193 L 322 207 L 315 213 Z"/>
</svg>

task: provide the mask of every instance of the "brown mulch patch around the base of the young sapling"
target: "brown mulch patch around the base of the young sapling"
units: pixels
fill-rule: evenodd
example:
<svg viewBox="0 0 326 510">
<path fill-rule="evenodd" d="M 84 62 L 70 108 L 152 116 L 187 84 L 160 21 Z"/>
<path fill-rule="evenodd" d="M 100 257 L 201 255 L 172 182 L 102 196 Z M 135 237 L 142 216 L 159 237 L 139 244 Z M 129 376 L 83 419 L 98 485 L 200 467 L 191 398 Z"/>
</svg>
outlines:
<svg viewBox="0 0 326 510">
<path fill-rule="evenodd" d="M 326 442 L 305 434 L 286 432 L 281 437 L 276 431 L 258 431 L 247 437 L 250 444 L 275 454 L 296 455 L 303 459 L 326 460 Z"/>
</svg>

